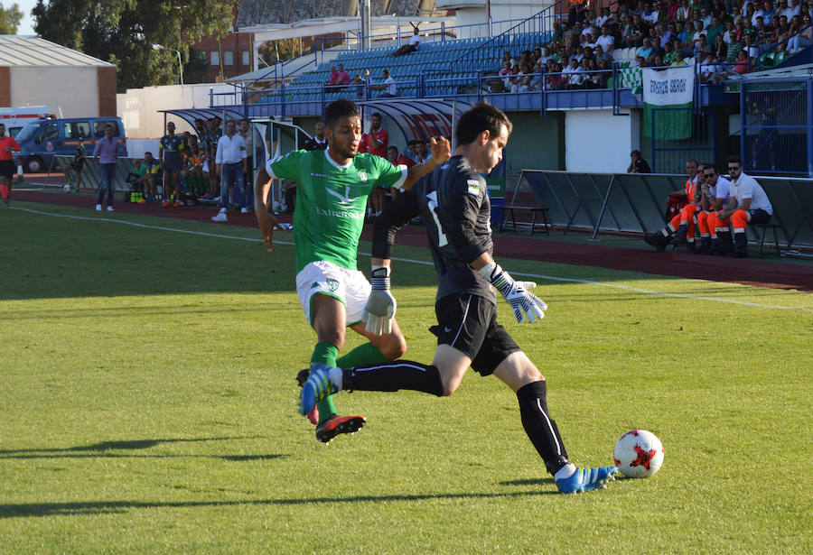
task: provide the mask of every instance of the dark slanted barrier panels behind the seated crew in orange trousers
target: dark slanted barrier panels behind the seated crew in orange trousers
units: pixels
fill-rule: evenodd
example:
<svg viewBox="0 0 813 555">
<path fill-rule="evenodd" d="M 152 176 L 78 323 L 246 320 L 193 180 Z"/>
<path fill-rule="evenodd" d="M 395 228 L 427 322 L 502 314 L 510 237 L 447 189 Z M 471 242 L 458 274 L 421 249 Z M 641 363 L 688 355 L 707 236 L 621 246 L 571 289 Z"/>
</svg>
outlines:
<svg viewBox="0 0 813 555">
<path fill-rule="evenodd" d="M 813 181 L 754 177 L 771 199 L 780 244 L 813 247 Z M 685 181 L 678 174 L 523 170 L 513 199 L 528 186 L 539 207 L 550 208 L 551 225 L 565 233 L 571 228 L 593 230 L 593 238 L 600 232 L 648 233 L 663 227 L 668 195 L 683 190 Z"/>
</svg>

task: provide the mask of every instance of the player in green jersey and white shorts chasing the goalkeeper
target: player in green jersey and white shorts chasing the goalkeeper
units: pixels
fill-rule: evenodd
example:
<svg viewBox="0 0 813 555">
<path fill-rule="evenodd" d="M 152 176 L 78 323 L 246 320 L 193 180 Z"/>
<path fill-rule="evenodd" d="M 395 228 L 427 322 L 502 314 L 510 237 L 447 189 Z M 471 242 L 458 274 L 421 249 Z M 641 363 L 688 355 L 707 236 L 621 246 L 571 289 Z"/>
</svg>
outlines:
<svg viewBox="0 0 813 555">
<path fill-rule="evenodd" d="M 316 331 L 311 368 L 351 367 L 395 360 L 406 352 L 406 339 L 395 319 L 365 309 L 370 284 L 357 270 L 356 254 L 370 192 L 376 187 L 409 189 L 416 180 L 449 159 L 449 142 L 431 141 L 432 158 L 406 168 L 384 158 L 359 153 L 361 118 L 350 100 L 339 99 L 325 109 L 325 151 L 294 151 L 266 162 L 257 172 L 254 206 L 266 206 L 271 180 L 296 181 L 294 242 L 296 291 L 305 319 Z M 257 224 L 270 252 L 278 229 L 276 217 L 257 209 Z M 389 268 L 378 267 L 373 280 L 389 280 Z M 369 339 L 339 358 L 346 328 Z M 363 416 L 338 416 L 332 397 L 316 405 L 310 415 L 317 424 L 316 439 L 328 442 L 337 434 L 359 430 Z"/>
</svg>

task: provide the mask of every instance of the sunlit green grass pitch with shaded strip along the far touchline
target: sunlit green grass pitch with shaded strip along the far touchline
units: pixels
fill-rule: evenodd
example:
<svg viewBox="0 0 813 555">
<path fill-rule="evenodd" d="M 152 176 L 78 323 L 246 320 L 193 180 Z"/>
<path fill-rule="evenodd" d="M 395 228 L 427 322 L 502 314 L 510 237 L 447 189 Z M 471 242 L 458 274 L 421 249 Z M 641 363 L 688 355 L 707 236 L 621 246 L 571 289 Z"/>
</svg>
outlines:
<svg viewBox="0 0 813 555">
<path fill-rule="evenodd" d="M 341 393 L 369 424 L 317 443 L 290 235 L 266 254 L 255 229 L 17 202 L 0 237 L 5 553 L 813 551 L 809 293 L 496 253 L 550 306 L 500 319 L 574 462 L 612 464 L 633 428 L 666 450 L 657 476 L 558 495 L 493 377 Z M 428 362 L 434 269 L 395 255 L 407 358 Z"/>
</svg>

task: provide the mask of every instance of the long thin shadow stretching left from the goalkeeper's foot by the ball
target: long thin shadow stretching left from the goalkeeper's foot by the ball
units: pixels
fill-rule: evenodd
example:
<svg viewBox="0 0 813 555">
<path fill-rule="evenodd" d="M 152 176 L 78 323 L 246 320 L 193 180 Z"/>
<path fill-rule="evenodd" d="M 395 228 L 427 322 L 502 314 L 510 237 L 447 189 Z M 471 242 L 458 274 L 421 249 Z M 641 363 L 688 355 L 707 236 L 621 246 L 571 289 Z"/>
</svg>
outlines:
<svg viewBox="0 0 813 555">
<path fill-rule="evenodd" d="M 244 501 L 77 501 L 67 503 L 0 504 L 0 519 L 29 516 L 70 516 L 126 513 L 129 509 L 183 509 L 196 507 L 238 507 L 274 505 L 318 505 L 334 503 L 416 502 L 434 499 L 491 499 L 528 497 L 532 495 L 561 495 L 556 490 L 533 490 L 504 494 L 462 493 L 423 495 L 353 495 L 350 497 L 314 497 L 311 499 L 247 499 Z"/>
</svg>

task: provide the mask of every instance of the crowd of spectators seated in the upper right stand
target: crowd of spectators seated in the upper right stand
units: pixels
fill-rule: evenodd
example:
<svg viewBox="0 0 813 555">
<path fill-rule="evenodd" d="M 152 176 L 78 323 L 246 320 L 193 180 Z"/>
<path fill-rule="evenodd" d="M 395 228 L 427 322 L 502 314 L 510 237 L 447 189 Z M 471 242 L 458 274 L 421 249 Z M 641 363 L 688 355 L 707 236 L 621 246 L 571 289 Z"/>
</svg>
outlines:
<svg viewBox="0 0 813 555">
<path fill-rule="evenodd" d="M 766 54 L 775 62 L 811 42 L 808 0 L 621 0 L 612 11 L 575 4 L 566 20 L 554 23 L 547 45 L 519 57 L 505 51 L 488 88 L 528 92 L 540 90 L 543 79 L 547 90 L 606 88 L 617 49 L 633 49 L 631 67 L 680 66 L 695 59 L 700 79 L 718 83 L 765 65 Z"/>
</svg>

